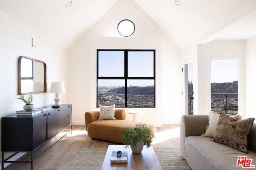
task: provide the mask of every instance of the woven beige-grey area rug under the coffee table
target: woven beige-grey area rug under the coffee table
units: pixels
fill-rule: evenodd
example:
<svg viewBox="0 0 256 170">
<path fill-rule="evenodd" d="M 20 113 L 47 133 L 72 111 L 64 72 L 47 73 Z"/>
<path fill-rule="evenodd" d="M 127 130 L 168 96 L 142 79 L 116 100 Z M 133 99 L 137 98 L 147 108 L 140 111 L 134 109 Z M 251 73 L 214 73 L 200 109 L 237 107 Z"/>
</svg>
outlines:
<svg viewBox="0 0 256 170">
<path fill-rule="evenodd" d="M 162 170 L 191 170 L 180 148 L 154 148 Z M 81 149 L 68 170 L 101 170 L 107 148 Z"/>
</svg>

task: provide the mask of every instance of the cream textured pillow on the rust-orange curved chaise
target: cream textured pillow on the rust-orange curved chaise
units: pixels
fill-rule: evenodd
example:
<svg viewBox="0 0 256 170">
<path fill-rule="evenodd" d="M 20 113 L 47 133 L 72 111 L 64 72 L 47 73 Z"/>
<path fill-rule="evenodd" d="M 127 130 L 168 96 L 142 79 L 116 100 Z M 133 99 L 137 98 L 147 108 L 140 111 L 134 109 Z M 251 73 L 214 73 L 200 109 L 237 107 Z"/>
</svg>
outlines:
<svg viewBox="0 0 256 170">
<path fill-rule="evenodd" d="M 115 105 L 101 106 L 100 105 L 100 117 L 98 120 L 114 120 L 115 117 Z"/>
</svg>

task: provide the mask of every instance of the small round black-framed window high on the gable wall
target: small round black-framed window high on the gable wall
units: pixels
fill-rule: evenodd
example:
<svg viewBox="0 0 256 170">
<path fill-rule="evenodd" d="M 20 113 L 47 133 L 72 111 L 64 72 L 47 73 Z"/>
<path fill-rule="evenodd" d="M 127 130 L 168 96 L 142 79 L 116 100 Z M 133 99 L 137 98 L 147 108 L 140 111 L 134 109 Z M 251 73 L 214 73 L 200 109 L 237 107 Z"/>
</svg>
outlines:
<svg viewBox="0 0 256 170">
<path fill-rule="evenodd" d="M 129 37 L 135 31 L 135 25 L 131 20 L 122 20 L 117 25 L 118 32 L 124 36 Z"/>
</svg>

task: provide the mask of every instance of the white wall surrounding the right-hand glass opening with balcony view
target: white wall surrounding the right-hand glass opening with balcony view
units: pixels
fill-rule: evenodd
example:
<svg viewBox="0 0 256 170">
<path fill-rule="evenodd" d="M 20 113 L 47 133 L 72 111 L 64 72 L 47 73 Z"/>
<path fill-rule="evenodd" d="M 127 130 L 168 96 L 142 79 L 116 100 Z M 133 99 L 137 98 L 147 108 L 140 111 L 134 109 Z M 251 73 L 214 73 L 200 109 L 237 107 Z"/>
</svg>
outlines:
<svg viewBox="0 0 256 170">
<path fill-rule="evenodd" d="M 208 114 L 210 106 L 210 59 L 237 59 L 239 60 L 238 75 L 238 111 L 244 114 L 244 41 L 215 40 L 204 45 L 198 45 L 198 114 Z"/>
</svg>

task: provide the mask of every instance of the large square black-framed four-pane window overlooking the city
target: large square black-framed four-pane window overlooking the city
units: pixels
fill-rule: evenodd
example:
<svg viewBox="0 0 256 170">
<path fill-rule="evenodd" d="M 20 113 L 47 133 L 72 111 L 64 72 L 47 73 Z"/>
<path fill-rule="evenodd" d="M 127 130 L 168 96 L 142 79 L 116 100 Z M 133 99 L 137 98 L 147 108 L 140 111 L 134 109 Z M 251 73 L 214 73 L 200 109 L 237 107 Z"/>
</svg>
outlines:
<svg viewBox="0 0 256 170">
<path fill-rule="evenodd" d="M 97 107 L 155 107 L 156 50 L 97 49 Z"/>
</svg>

